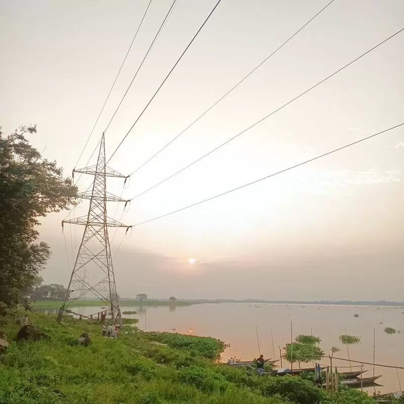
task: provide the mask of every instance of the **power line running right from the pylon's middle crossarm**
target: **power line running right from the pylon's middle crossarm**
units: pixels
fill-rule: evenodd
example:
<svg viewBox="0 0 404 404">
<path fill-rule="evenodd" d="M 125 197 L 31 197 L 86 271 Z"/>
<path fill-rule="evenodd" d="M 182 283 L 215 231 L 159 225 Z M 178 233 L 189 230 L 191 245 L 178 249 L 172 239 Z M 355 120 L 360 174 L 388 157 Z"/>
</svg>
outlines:
<svg viewBox="0 0 404 404">
<path fill-rule="evenodd" d="M 167 180 L 175 177 L 177 174 L 181 173 L 182 171 L 186 170 L 187 168 L 193 166 L 195 163 L 199 162 L 202 159 L 205 159 L 205 157 L 208 157 L 209 155 L 211 155 L 212 153 L 214 153 L 214 151 L 218 150 L 219 148 L 223 147 L 225 144 L 231 142 L 232 140 L 234 140 L 236 137 L 242 135 L 244 132 L 246 132 L 247 130 L 254 128 L 256 125 L 258 125 L 259 123 L 261 123 L 262 121 L 264 121 L 265 119 L 269 118 L 271 115 L 274 115 L 275 113 L 277 113 L 278 111 L 280 111 L 281 109 L 283 109 L 284 107 L 288 106 L 289 104 L 293 103 L 293 101 L 295 101 L 296 99 L 300 98 L 302 95 L 305 95 L 306 93 L 308 93 L 309 91 L 313 90 L 314 88 L 316 88 L 317 86 L 319 86 L 320 84 L 324 83 L 325 81 L 327 81 L 328 79 L 330 79 L 331 77 L 335 76 L 337 73 L 339 73 L 340 71 L 344 70 L 345 68 L 347 68 L 348 66 L 350 66 L 351 64 L 357 62 L 359 59 L 363 58 L 365 55 L 367 55 L 368 53 L 372 52 L 374 49 L 376 49 L 378 46 L 382 45 L 384 42 L 387 42 L 389 39 L 391 39 L 392 37 L 394 37 L 395 35 L 399 34 L 401 31 L 403 31 L 404 28 L 401 28 L 399 31 L 397 31 L 395 34 L 389 36 L 387 39 L 384 39 L 382 42 L 378 43 L 376 46 L 373 46 L 371 49 L 369 49 L 369 51 L 365 52 L 364 54 L 362 54 L 361 56 L 359 56 L 358 58 L 352 60 L 351 62 L 349 62 L 348 64 L 346 64 L 345 66 L 341 67 L 340 69 L 338 69 L 337 71 L 335 71 L 334 73 L 330 74 L 328 77 L 326 77 L 325 79 L 319 81 L 317 84 L 313 85 L 312 87 L 308 88 L 306 91 L 300 93 L 299 95 L 297 95 L 296 97 L 292 98 L 290 101 L 288 101 L 286 104 L 283 104 L 281 107 L 277 108 L 275 111 L 272 111 L 270 114 L 268 114 L 267 116 L 265 116 L 264 118 L 261 118 L 259 121 L 255 122 L 254 124 L 252 124 L 251 126 L 247 127 L 246 129 L 244 129 L 243 131 L 241 131 L 240 133 L 236 134 L 235 136 L 231 137 L 230 139 L 226 140 L 224 143 L 220 144 L 219 146 L 215 147 L 213 150 L 209 151 L 209 153 L 207 153 L 206 155 L 199 157 L 199 159 L 195 160 L 194 162 L 188 164 L 187 166 L 183 167 L 181 170 L 177 171 L 176 173 L 170 175 L 169 177 L 167 177 L 166 179 L 160 181 L 159 183 L 151 186 L 150 188 L 146 189 L 145 191 L 135 195 L 132 199 L 137 198 L 140 195 L 143 195 L 144 193 L 150 191 L 151 189 L 156 188 L 157 186 L 163 184 L 164 182 L 166 182 Z"/>
</svg>

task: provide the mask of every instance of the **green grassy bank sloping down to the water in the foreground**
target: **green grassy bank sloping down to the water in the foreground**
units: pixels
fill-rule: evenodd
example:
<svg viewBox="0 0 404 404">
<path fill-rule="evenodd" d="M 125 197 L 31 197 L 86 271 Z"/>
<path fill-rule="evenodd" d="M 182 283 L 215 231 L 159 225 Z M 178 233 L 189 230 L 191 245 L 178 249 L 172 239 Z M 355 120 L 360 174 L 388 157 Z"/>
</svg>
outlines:
<svg viewBox="0 0 404 404">
<path fill-rule="evenodd" d="M 125 326 L 120 339 L 99 325 L 30 313 L 51 336 L 11 342 L 0 355 L 0 403 L 15 404 L 372 404 L 357 390 L 330 393 L 299 377 L 260 377 L 215 363 L 214 338 L 144 333 Z M 3 326 L 11 340 L 18 327 Z M 89 347 L 76 344 L 86 330 Z"/>
</svg>

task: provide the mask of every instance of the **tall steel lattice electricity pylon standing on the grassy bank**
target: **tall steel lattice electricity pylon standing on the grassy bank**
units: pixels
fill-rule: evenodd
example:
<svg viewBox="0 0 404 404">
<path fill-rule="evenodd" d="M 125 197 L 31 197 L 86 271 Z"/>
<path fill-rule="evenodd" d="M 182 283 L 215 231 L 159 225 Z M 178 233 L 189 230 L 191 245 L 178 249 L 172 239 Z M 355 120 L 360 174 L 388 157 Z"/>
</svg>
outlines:
<svg viewBox="0 0 404 404">
<path fill-rule="evenodd" d="M 88 214 L 62 222 L 62 228 L 64 223 L 82 225 L 85 228 L 66 296 L 59 310 L 58 322 L 62 320 L 64 312 L 77 314 L 69 308 L 74 307 L 76 300 L 90 293 L 108 306 L 112 312 L 112 320 L 118 320 L 122 325 L 108 227 L 126 227 L 126 231 L 128 231 L 131 226 L 126 226 L 107 216 L 107 201 L 125 202 L 125 205 L 128 202 L 107 192 L 107 177 L 125 178 L 125 182 L 128 177 L 106 166 L 104 133 L 99 146 L 97 164 L 80 170 L 74 169 L 73 176 L 75 172 L 93 175 L 94 182 L 90 192 L 86 191 L 78 194 L 79 198 L 90 200 Z M 92 266 L 91 278 L 97 279 L 93 284 L 90 284 L 81 274 L 86 266 Z M 98 274 L 98 278 L 94 276 L 95 272 Z"/>
</svg>

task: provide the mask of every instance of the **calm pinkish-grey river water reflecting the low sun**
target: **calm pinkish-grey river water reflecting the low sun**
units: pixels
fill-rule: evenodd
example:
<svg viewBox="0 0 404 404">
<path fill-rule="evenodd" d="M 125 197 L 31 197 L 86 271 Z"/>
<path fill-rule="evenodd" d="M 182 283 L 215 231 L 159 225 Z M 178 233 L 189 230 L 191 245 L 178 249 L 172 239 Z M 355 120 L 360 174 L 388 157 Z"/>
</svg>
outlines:
<svg viewBox="0 0 404 404">
<path fill-rule="evenodd" d="M 98 307 L 72 308 L 76 313 L 91 314 L 101 311 Z M 236 356 L 241 360 L 250 360 L 258 356 L 257 330 L 260 351 L 266 358 L 279 359 L 279 347 L 283 348 L 298 334 L 319 336 L 320 346 L 328 354 L 332 346 L 341 348 L 334 354 L 338 358 L 347 358 L 346 346 L 338 336 L 344 334 L 361 337 L 361 343 L 349 347 L 350 359 L 373 363 L 373 330 L 375 330 L 375 363 L 404 367 L 404 308 L 373 307 L 373 306 L 318 306 L 318 305 L 272 305 L 224 303 L 201 304 L 192 306 L 157 306 L 157 307 L 122 307 L 122 311 L 137 312 L 136 315 L 123 315 L 138 318 L 138 327 L 146 331 L 169 331 L 187 334 L 193 329 L 193 335 L 212 336 L 219 338 L 230 347 L 222 355 L 222 359 Z M 354 317 L 358 314 L 359 317 Z M 382 324 L 381 324 L 382 323 Z M 257 326 L 257 330 L 256 330 Z M 386 334 L 385 327 L 402 330 L 402 333 Z M 175 331 L 174 331 L 175 329 Z M 274 340 L 272 346 L 271 332 Z M 283 353 L 283 350 L 282 350 Z M 323 364 L 329 365 L 324 359 Z M 280 363 L 278 363 L 280 365 Z M 352 367 L 360 364 L 352 363 Z M 302 365 L 302 367 L 312 366 Z M 348 370 L 349 363 L 333 360 L 333 366 L 340 371 Z M 348 367 L 342 369 L 342 367 Z M 290 367 L 283 360 L 283 367 Z M 294 368 L 297 365 L 294 364 Z M 359 370 L 355 368 L 355 370 Z M 364 377 L 373 375 L 373 366 L 364 365 L 367 370 Z M 382 387 L 377 391 L 390 392 L 404 389 L 404 370 L 384 367 L 375 368 L 376 375 L 383 375 L 377 382 Z M 374 388 L 366 389 L 369 393 Z"/>
</svg>

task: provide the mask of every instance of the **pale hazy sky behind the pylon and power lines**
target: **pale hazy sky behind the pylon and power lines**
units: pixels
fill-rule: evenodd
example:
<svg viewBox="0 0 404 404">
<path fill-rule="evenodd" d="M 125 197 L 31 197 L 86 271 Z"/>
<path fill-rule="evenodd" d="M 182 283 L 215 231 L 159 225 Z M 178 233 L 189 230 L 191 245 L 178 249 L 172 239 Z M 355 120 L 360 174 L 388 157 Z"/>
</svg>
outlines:
<svg viewBox="0 0 404 404">
<path fill-rule="evenodd" d="M 0 1 L 0 125 L 73 169 L 148 0 Z M 153 0 L 78 166 L 85 166 L 171 5 Z M 216 0 L 178 0 L 106 132 L 110 156 Z M 222 0 L 110 162 L 129 174 L 326 4 Z M 404 27 L 402 0 L 335 0 L 157 158 L 123 197 L 165 179 Z M 134 224 L 404 121 L 404 32 L 190 169 L 132 201 Z M 91 161 L 94 164 L 95 160 Z M 402 300 L 404 128 L 186 211 L 135 227 L 115 257 L 121 296 Z M 85 190 L 90 178 L 78 185 Z M 77 178 L 77 177 L 76 177 Z M 121 180 L 109 190 L 122 191 Z M 86 213 L 80 204 L 74 216 Z M 120 206 L 116 219 L 121 216 Z M 109 205 L 113 217 L 116 205 Z M 65 285 L 60 222 L 46 282 Z M 65 226 L 69 264 L 83 227 Z M 114 234 L 112 231 L 111 237 Z M 124 231 L 113 241 L 115 252 Z M 76 239 L 76 241 L 75 241 Z M 196 264 L 188 264 L 195 258 Z M 95 275 L 90 271 L 90 280 Z"/>
</svg>

